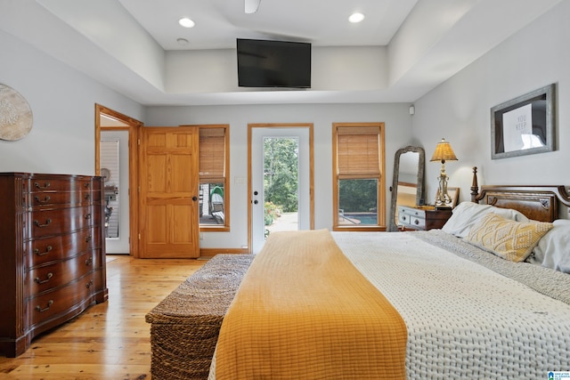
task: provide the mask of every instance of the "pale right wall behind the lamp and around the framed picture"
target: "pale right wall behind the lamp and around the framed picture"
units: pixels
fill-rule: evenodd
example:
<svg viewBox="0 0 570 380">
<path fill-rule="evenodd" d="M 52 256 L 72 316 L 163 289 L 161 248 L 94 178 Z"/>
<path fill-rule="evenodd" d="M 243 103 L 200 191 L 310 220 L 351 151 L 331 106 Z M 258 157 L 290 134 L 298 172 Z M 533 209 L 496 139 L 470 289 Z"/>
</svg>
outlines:
<svg viewBox="0 0 570 380">
<path fill-rule="evenodd" d="M 443 85 L 415 101 L 415 141 L 431 158 L 437 141 L 450 141 L 459 161 L 446 164 L 450 186 L 470 199 L 471 167 L 479 184 L 570 184 L 570 2 L 562 2 Z M 491 159 L 490 109 L 544 85 L 556 83 L 557 150 Z M 435 198 L 438 163 L 426 164 L 428 200 Z M 433 203 L 433 202 L 432 202 Z"/>
</svg>

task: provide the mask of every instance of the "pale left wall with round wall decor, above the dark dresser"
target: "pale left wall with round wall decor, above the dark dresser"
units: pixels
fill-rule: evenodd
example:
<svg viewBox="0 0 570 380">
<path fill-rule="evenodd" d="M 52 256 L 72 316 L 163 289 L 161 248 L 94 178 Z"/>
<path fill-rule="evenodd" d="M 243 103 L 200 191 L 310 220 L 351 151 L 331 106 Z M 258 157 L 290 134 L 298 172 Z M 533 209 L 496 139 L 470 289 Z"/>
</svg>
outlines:
<svg viewBox="0 0 570 380">
<path fill-rule="evenodd" d="M 0 31 L 0 83 L 32 109 L 31 132 L 0 140 L 0 172 L 88 174 L 95 169 L 95 103 L 142 118 L 142 106 Z"/>
</svg>

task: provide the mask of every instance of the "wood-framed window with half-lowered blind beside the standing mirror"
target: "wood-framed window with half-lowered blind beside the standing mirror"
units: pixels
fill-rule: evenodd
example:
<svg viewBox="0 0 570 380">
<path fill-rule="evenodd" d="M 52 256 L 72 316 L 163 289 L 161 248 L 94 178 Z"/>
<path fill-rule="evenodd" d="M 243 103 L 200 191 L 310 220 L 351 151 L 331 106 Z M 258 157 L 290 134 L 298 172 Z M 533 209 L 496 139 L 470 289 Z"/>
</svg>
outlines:
<svg viewBox="0 0 570 380">
<path fill-rule="evenodd" d="M 333 230 L 385 230 L 384 123 L 333 124 Z"/>
</svg>

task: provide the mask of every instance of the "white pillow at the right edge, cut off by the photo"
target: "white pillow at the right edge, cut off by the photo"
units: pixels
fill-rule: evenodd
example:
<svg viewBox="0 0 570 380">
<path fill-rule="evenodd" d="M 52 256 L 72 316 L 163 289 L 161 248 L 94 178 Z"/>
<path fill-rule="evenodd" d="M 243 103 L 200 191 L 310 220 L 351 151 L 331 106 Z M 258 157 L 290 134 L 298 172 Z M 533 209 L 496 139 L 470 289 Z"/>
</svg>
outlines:
<svg viewBox="0 0 570 380">
<path fill-rule="evenodd" d="M 533 262 L 545 268 L 570 273 L 570 220 L 558 219 L 534 247 Z"/>
</svg>

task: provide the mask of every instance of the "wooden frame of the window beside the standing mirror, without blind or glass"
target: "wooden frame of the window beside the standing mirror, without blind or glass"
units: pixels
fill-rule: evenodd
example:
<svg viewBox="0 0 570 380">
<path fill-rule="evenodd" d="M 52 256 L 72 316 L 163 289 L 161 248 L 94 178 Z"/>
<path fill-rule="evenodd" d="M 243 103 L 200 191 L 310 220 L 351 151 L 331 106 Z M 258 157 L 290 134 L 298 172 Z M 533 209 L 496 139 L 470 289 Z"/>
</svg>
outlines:
<svg viewBox="0 0 570 380">
<path fill-rule="evenodd" d="M 339 173 L 338 143 L 339 136 L 346 134 L 366 134 L 371 128 L 378 128 L 378 170 L 371 168 L 354 170 L 344 166 L 342 173 Z M 385 125 L 384 123 L 333 123 L 332 125 L 332 230 L 354 230 L 354 231 L 383 231 L 386 230 L 386 182 L 384 178 L 385 160 Z M 341 164 L 342 166 L 342 164 Z M 349 165 L 350 166 L 350 165 Z M 370 166 L 370 165 L 369 165 Z M 338 181 L 346 179 L 376 179 L 377 199 L 378 199 L 378 224 L 346 226 L 340 225 L 338 219 L 339 190 Z"/>
</svg>

